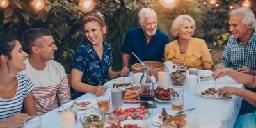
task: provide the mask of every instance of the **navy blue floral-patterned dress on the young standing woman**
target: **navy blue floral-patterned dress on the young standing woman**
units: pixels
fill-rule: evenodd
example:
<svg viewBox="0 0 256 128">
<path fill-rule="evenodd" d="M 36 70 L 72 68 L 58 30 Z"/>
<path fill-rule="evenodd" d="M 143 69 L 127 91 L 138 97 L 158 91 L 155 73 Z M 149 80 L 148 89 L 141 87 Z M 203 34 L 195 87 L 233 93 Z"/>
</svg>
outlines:
<svg viewBox="0 0 256 128">
<path fill-rule="evenodd" d="M 103 56 L 100 60 L 97 52 L 90 42 L 77 47 L 72 62 L 72 69 L 76 68 L 83 72 L 82 82 L 92 86 L 104 85 L 108 76 L 109 67 L 112 65 L 113 48 L 107 42 L 103 42 Z M 84 93 L 72 90 L 72 99 L 80 97 Z"/>
</svg>

